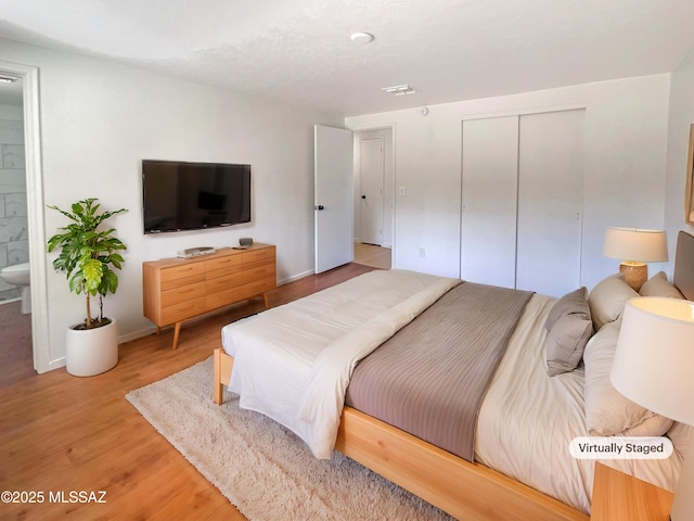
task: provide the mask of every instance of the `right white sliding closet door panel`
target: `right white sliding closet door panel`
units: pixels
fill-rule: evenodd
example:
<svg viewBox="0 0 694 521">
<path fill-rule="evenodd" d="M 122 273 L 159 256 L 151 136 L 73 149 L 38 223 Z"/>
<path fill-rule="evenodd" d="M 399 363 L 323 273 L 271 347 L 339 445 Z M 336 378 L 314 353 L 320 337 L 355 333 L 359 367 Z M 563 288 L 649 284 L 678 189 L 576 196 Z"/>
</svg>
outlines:
<svg viewBox="0 0 694 521">
<path fill-rule="evenodd" d="M 580 279 L 584 111 L 520 116 L 516 288 L 562 296 Z"/>
</svg>

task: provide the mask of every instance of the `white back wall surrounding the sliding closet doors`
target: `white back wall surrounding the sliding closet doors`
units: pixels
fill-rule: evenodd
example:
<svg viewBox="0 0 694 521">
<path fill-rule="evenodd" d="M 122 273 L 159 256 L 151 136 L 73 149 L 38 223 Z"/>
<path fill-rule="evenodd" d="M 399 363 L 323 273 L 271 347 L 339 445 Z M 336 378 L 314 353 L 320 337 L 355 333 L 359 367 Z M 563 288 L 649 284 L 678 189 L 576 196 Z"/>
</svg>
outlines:
<svg viewBox="0 0 694 521">
<path fill-rule="evenodd" d="M 407 190 L 396 190 L 395 267 L 459 275 L 463 117 L 584 107 L 581 284 L 616 272 L 618 262 L 602 255 L 605 228 L 664 226 L 669 86 L 661 74 L 433 105 L 426 116 L 411 109 L 347 118 L 348 128 L 395 125 L 396 187 Z"/>
</svg>

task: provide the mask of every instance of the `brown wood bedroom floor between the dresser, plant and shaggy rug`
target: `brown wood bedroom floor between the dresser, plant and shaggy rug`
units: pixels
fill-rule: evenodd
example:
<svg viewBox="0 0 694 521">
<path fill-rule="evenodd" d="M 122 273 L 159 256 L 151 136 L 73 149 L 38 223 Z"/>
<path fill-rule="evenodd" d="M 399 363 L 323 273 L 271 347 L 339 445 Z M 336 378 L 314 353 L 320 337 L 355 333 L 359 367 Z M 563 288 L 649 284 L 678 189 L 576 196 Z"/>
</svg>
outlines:
<svg viewBox="0 0 694 521">
<path fill-rule="evenodd" d="M 270 293 L 270 305 L 372 269 L 349 264 L 306 277 Z M 223 325 L 261 309 L 256 298 L 185 323 L 176 351 L 170 329 L 121 344 L 118 365 L 98 377 L 57 369 L 0 389 L 0 492 L 35 500 L 0 503 L 0 519 L 245 519 L 125 395 L 209 357 Z M 92 503 L 70 503 L 73 492 Z"/>
</svg>

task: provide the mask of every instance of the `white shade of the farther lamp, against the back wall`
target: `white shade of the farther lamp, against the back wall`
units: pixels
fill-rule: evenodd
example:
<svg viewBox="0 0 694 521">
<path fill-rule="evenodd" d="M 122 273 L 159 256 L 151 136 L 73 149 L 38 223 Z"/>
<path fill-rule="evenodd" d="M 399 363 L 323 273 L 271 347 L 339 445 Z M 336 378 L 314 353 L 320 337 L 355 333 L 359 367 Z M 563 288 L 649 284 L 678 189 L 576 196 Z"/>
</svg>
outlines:
<svg viewBox="0 0 694 521">
<path fill-rule="evenodd" d="M 665 231 L 607 228 L 603 255 L 620 260 L 664 263 L 668 259 Z"/>
</svg>

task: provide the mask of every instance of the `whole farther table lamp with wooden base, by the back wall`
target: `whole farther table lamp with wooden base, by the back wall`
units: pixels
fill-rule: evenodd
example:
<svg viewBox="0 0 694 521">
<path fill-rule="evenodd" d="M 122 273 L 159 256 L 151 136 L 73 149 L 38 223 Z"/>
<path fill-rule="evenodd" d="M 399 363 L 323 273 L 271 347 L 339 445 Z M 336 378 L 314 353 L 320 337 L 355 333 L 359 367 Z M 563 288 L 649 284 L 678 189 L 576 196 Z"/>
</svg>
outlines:
<svg viewBox="0 0 694 521">
<path fill-rule="evenodd" d="M 645 263 L 664 263 L 668 259 L 665 231 L 639 228 L 607 228 L 603 255 L 621 259 L 619 272 L 627 283 L 639 291 L 648 280 Z"/>
</svg>

